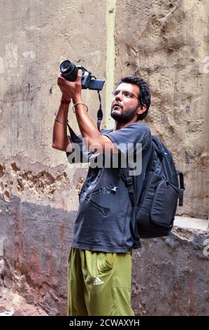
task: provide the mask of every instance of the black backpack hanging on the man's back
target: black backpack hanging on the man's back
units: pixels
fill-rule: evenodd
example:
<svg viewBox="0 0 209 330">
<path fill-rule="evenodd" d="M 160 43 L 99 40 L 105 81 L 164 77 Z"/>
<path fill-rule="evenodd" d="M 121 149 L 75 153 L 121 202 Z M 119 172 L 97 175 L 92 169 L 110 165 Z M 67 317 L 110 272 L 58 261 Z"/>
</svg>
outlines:
<svg viewBox="0 0 209 330">
<path fill-rule="evenodd" d="M 178 199 L 179 206 L 183 205 L 185 186 L 183 174 L 175 170 L 172 154 L 164 143 L 157 136 L 152 136 L 152 152 L 139 202 L 136 202 L 134 178 L 129 176 L 128 168 L 122 169 L 122 177 L 134 208 L 132 235 L 136 240 L 136 247 L 140 246 L 139 237 L 169 235 L 173 227 Z"/>
</svg>

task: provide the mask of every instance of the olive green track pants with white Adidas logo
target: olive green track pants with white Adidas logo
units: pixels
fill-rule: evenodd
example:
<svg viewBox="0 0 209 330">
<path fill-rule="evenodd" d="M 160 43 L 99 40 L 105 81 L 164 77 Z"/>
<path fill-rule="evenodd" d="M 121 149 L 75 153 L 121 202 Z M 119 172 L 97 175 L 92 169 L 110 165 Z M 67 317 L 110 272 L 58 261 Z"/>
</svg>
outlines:
<svg viewBox="0 0 209 330">
<path fill-rule="evenodd" d="M 106 253 L 71 248 L 67 314 L 130 316 L 131 251 Z"/>
</svg>

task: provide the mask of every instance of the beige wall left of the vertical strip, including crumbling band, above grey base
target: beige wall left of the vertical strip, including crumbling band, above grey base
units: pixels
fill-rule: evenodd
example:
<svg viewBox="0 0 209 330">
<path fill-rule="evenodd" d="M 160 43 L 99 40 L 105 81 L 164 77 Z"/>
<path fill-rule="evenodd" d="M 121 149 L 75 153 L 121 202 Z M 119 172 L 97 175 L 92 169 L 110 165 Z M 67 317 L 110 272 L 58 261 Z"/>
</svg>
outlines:
<svg viewBox="0 0 209 330">
<path fill-rule="evenodd" d="M 1 193 L 51 206 L 62 205 L 64 194 L 68 208 L 77 209 L 78 172 L 67 166 L 64 152 L 51 147 L 61 95 L 58 67 L 69 58 L 105 79 L 106 1 L 0 1 L 0 6 Z M 102 96 L 104 102 L 105 88 Z M 96 121 L 96 92 L 83 91 L 83 98 Z M 78 132 L 72 111 L 69 121 Z M 42 171 L 50 174 L 40 183 Z"/>
</svg>

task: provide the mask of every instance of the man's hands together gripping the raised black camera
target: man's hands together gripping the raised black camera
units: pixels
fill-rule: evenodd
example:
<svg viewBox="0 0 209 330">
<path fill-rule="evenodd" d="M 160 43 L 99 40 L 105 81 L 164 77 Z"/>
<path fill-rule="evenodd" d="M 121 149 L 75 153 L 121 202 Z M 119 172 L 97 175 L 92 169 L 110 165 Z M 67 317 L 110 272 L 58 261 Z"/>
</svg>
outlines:
<svg viewBox="0 0 209 330">
<path fill-rule="evenodd" d="M 67 100 L 73 99 L 73 103 L 78 103 L 81 100 L 81 78 L 82 70 L 78 70 L 78 77 L 75 81 L 68 81 L 59 74 L 57 84 L 62 91 L 64 98 Z"/>
</svg>

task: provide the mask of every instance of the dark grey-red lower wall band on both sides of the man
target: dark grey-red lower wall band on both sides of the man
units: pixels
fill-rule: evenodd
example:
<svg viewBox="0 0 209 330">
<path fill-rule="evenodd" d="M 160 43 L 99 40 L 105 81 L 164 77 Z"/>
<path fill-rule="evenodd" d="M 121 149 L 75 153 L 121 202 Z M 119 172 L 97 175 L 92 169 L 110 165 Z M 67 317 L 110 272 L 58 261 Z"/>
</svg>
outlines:
<svg viewBox="0 0 209 330">
<path fill-rule="evenodd" d="M 76 212 L 0 195 L 0 284 L 38 303 L 48 315 L 66 315 L 67 259 Z M 143 239 L 133 253 L 135 315 L 208 315 L 208 230 L 175 227 Z M 207 250 L 209 251 L 209 249 Z"/>
</svg>

